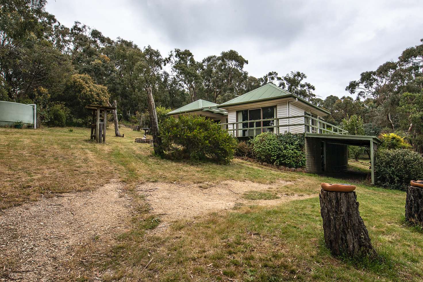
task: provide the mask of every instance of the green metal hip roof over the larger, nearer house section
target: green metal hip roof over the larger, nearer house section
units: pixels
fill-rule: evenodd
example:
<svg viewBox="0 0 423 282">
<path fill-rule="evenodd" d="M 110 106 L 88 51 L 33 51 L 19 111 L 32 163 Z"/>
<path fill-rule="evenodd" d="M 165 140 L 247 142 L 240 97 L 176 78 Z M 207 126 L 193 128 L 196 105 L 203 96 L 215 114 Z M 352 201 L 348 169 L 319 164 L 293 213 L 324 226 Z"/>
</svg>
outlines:
<svg viewBox="0 0 423 282">
<path fill-rule="evenodd" d="M 274 100 L 274 99 L 281 99 L 281 98 L 288 98 L 288 97 L 297 98 L 298 101 L 308 104 L 309 106 L 330 115 L 330 112 L 328 112 L 327 110 L 319 108 L 316 105 L 311 104 L 309 101 L 306 101 L 298 97 L 297 95 L 294 95 L 280 87 L 277 87 L 271 82 L 259 88 L 256 88 L 250 92 L 247 92 L 241 96 L 238 96 L 232 100 L 226 101 L 225 103 L 217 105 L 217 107 L 228 107 L 228 106 L 234 106 L 239 104 L 247 104 L 247 103 L 253 103 L 258 101 Z"/>
</svg>

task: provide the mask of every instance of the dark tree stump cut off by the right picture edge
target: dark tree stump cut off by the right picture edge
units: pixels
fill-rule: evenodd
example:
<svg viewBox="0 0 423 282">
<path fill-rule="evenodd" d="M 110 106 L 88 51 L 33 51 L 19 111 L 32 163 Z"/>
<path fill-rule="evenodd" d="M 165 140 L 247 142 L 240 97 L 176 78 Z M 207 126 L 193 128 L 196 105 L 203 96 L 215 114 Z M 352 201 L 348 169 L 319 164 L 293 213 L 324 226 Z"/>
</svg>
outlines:
<svg viewBox="0 0 423 282">
<path fill-rule="evenodd" d="M 407 187 L 405 219 L 412 225 L 423 226 L 423 188 Z"/>
</svg>

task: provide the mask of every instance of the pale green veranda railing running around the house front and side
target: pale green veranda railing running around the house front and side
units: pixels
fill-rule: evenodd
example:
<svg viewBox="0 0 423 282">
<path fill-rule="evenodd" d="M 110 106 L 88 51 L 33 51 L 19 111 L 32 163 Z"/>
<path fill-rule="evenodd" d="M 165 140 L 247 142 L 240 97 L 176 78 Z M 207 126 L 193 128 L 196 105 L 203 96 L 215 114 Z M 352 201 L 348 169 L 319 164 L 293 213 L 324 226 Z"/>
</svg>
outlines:
<svg viewBox="0 0 423 282">
<path fill-rule="evenodd" d="M 294 123 L 291 123 L 292 119 L 298 119 L 298 118 L 302 118 L 304 122 L 298 123 L 298 120 L 294 120 Z M 243 123 L 244 124 L 247 123 L 249 125 L 249 123 L 260 122 L 261 125 L 263 125 L 263 121 L 271 121 L 271 120 L 273 120 L 273 125 L 271 126 L 254 126 L 254 127 L 244 127 L 244 128 L 242 127 Z M 286 121 L 286 122 L 281 122 L 281 121 Z M 246 120 L 246 121 L 238 121 L 233 123 L 221 123 L 220 125 L 226 126 L 227 127 L 226 130 L 229 132 L 232 132 L 233 136 L 238 135 L 236 134 L 236 131 L 242 132 L 243 130 L 247 130 L 247 132 L 249 130 L 254 130 L 254 134 L 253 134 L 254 136 L 256 135 L 255 130 L 261 129 L 261 131 L 263 131 L 263 129 L 270 129 L 270 128 L 273 128 L 273 131 L 275 133 L 278 133 L 278 134 L 285 133 L 285 132 L 280 132 L 281 128 L 286 128 L 287 129 L 286 131 L 289 132 L 290 131 L 289 128 L 291 126 L 303 126 L 304 132 L 310 132 L 310 133 L 348 134 L 348 131 L 346 131 L 345 129 L 342 129 L 341 127 L 327 123 L 324 120 L 314 118 L 310 115 L 296 115 L 292 117 Z"/>
</svg>

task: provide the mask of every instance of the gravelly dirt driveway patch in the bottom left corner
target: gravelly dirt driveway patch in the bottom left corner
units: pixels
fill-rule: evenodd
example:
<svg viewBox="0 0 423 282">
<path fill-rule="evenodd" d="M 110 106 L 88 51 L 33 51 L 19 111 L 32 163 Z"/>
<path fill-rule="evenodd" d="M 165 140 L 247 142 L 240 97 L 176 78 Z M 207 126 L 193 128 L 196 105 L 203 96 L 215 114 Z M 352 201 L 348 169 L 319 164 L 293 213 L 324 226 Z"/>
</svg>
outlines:
<svg viewBox="0 0 423 282">
<path fill-rule="evenodd" d="M 66 260 L 78 246 L 111 238 L 127 227 L 131 198 L 122 188 L 112 181 L 93 192 L 7 209 L 0 215 L 0 281 L 63 279 L 69 271 Z"/>
</svg>

